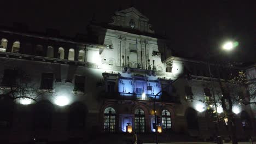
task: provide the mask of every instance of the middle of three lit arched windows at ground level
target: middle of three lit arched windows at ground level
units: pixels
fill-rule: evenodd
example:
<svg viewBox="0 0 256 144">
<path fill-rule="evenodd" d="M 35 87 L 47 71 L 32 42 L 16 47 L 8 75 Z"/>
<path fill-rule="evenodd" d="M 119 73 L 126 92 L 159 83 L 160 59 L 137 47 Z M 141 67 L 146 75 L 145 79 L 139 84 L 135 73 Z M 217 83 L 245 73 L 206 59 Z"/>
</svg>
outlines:
<svg viewBox="0 0 256 144">
<path fill-rule="evenodd" d="M 135 119 L 134 119 L 135 131 L 137 133 L 145 132 L 145 113 L 142 109 L 135 110 Z"/>
</svg>

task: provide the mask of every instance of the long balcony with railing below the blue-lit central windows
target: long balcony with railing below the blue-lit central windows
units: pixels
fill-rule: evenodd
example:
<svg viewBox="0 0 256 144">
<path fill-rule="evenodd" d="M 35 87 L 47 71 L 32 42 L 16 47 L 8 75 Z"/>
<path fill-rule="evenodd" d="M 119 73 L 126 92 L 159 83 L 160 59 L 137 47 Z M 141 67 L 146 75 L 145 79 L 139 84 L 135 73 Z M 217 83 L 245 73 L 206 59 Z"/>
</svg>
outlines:
<svg viewBox="0 0 256 144">
<path fill-rule="evenodd" d="M 119 93 L 119 92 L 101 92 L 101 98 L 114 100 L 139 100 L 139 101 L 154 101 L 154 94 L 138 94 L 138 93 Z M 167 103 L 180 103 L 176 97 L 162 94 L 156 96 L 156 101 Z"/>
</svg>

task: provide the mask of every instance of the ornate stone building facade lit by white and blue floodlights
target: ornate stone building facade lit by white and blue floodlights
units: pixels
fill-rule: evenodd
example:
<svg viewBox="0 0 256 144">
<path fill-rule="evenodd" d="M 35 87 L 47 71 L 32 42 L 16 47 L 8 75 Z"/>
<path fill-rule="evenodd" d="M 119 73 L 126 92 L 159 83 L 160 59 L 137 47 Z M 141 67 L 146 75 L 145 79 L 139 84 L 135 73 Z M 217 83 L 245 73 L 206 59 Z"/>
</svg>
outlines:
<svg viewBox="0 0 256 144">
<path fill-rule="evenodd" d="M 166 133 L 214 135 L 203 103 L 211 99 L 204 91 L 207 63 L 172 56 L 169 42 L 135 8 L 118 11 L 106 25 L 92 22 L 88 32 L 83 41 L 0 31 L 1 140 L 88 140 L 126 133 L 127 123 L 137 133 L 153 133 L 154 112 Z M 246 137 L 241 115 L 254 128 L 255 114 L 249 106 L 237 109 L 239 135 Z"/>
</svg>

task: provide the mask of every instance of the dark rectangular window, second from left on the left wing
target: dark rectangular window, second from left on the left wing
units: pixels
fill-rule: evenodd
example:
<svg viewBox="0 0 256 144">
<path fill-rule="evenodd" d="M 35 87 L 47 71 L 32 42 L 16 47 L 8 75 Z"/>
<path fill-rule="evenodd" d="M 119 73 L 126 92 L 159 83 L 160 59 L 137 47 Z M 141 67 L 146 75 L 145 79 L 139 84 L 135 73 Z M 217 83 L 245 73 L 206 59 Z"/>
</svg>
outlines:
<svg viewBox="0 0 256 144">
<path fill-rule="evenodd" d="M 53 73 L 43 73 L 41 79 L 41 89 L 53 89 Z"/>
</svg>

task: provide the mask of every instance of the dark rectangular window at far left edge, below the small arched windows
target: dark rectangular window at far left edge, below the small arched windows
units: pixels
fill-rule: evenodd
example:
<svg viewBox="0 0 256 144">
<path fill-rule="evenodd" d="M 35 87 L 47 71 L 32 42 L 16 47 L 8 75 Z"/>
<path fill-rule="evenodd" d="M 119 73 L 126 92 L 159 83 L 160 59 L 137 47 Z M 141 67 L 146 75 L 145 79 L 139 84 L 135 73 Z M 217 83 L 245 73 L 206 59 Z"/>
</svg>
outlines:
<svg viewBox="0 0 256 144">
<path fill-rule="evenodd" d="M 18 70 L 15 69 L 5 69 L 4 70 L 4 76 L 2 79 L 2 85 L 4 86 L 15 86 L 16 79 L 18 75 Z"/>
</svg>

